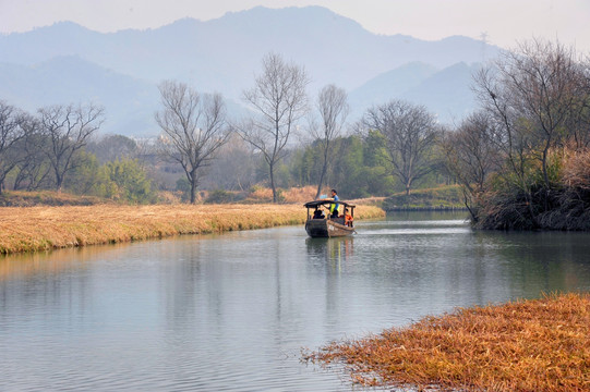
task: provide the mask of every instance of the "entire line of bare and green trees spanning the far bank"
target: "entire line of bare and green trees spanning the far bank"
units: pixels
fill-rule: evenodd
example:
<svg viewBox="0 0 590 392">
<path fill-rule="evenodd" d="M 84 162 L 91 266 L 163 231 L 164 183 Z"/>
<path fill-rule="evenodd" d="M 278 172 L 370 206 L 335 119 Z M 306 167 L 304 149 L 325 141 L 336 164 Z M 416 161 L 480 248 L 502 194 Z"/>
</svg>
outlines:
<svg viewBox="0 0 590 392">
<path fill-rule="evenodd" d="M 588 64 L 558 42 L 523 42 L 473 75 L 480 109 L 456 126 L 397 99 L 350 121 L 342 88 L 310 97 L 304 68 L 273 52 L 243 91 L 249 111 L 240 119 L 229 118 L 218 94 L 162 82 L 156 142 L 94 139 L 104 112 L 92 105 L 29 115 L 2 102 L 0 189 L 10 180 L 15 189 L 74 187 L 137 203 L 177 189 L 195 203 L 202 188 L 264 183 L 280 201 L 280 187 L 313 185 L 316 197 L 337 187 L 352 198 L 458 183 L 479 226 L 567 226 L 556 207 L 588 210 Z M 127 171 L 135 174 L 120 180 Z"/>
</svg>

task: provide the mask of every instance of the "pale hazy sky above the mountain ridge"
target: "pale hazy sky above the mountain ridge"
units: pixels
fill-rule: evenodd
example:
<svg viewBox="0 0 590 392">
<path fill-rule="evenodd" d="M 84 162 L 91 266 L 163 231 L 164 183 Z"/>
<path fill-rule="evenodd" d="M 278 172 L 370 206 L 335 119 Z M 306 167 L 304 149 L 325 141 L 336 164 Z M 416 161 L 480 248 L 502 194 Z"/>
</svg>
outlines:
<svg viewBox="0 0 590 392">
<path fill-rule="evenodd" d="M 482 38 L 504 48 L 542 37 L 590 54 L 590 0 L 0 0 L 0 33 L 73 21 L 98 32 L 153 28 L 182 17 L 208 21 L 226 12 L 321 5 L 376 34 L 435 40 Z"/>
</svg>

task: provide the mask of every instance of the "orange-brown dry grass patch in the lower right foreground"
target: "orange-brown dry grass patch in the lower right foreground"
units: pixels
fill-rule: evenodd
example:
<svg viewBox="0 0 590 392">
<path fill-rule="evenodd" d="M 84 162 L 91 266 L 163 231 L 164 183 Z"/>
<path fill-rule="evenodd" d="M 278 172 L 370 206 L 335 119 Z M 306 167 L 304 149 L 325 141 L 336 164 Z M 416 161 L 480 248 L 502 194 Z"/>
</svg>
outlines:
<svg viewBox="0 0 590 392">
<path fill-rule="evenodd" d="M 440 391 L 590 391 L 590 295 L 549 295 L 426 317 L 336 342 L 305 359 L 344 362 L 354 382 Z"/>
</svg>

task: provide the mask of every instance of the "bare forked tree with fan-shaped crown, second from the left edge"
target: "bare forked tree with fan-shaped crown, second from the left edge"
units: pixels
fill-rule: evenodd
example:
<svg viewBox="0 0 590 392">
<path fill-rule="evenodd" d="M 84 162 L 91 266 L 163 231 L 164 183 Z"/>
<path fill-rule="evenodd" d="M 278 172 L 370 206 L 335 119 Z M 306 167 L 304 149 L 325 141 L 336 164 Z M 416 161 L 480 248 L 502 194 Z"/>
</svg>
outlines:
<svg viewBox="0 0 590 392">
<path fill-rule="evenodd" d="M 56 188 L 61 192 L 63 180 L 74 169 L 74 158 L 100 128 L 104 109 L 87 106 L 50 106 L 39 109 L 40 124 L 48 144 L 44 149 L 56 175 Z"/>
</svg>

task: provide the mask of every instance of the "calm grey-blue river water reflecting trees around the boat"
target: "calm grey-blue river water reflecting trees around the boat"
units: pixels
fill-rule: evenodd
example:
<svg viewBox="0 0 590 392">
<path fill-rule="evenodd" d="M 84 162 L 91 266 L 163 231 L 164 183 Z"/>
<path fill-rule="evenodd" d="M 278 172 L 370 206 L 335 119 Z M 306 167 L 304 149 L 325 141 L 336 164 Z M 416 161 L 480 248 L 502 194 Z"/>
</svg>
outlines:
<svg viewBox="0 0 590 392">
<path fill-rule="evenodd" d="M 0 391 L 350 391 L 300 350 L 458 306 L 590 291 L 590 234 L 472 232 L 461 218 L 0 258 Z"/>
</svg>

